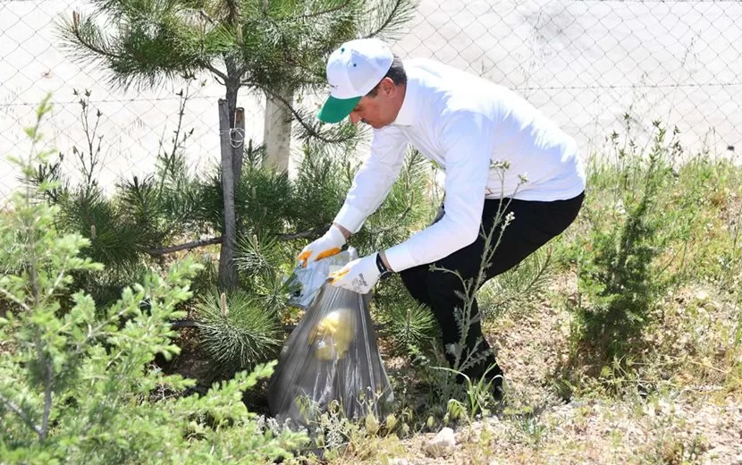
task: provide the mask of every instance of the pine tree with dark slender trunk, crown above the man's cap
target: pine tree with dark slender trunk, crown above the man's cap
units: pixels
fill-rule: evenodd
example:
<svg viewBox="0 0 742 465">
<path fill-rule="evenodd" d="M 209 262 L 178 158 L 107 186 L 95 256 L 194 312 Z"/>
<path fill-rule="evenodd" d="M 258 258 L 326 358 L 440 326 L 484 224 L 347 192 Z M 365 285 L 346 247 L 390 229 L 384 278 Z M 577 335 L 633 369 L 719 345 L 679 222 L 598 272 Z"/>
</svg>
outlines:
<svg viewBox="0 0 742 465">
<path fill-rule="evenodd" d="M 211 73 L 225 89 L 220 100 L 223 243 L 220 284 L 237 286 L 234 195 L 243 147 L 231 138 L 240 116 L 240 89 L 270 97 L 286 89 L 324 86 L 324 58 L 349 38 L 392 34 L 409 19 L 409 0 L 92 0 L 88 16 L 73 13 L 61 32 L 72 54 L 103 65 L 115 86 L 155 87 Z M 341 139 L 342 127 L 322 130 L 308 113 L 291 107 L 310 136 Z M 244 120 L 242 120 L 244 123 Z M 236 148 L 232 146 L 237 146 Z"/>
</svg>

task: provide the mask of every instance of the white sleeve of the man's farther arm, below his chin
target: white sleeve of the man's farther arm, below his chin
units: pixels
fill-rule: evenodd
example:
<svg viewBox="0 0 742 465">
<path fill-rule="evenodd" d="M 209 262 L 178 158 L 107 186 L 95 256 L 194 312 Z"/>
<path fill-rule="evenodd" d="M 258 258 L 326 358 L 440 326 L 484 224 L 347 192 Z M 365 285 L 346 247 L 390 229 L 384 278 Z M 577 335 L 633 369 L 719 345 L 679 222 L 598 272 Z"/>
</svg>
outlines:
<svg viewBox="0 0 742 465">
<path fill-rule="evenodd" d="M 366 218 L 381 206 L 400 175 L 407 138 L 399 128 L 387 126 L 374 131 L 371 154 L 358 169 L 348 196 L 334 222 L 358 232 Z"/>
</svg>

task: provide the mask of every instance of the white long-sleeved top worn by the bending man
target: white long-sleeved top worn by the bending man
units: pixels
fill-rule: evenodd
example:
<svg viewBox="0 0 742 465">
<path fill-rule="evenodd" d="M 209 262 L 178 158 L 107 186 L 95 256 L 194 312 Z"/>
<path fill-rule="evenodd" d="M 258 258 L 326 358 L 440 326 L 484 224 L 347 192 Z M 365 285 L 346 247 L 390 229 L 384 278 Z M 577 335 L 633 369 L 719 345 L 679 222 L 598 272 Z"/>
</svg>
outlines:
<svg viewBox="0 0 742 465">
<path fill-rule="evenodd" d="M 585 190 L 575 140 L 509 89 L 431 60 L 404 62 L 396 120 L 374 130 L 335 223 L 358 232 L 399 176 L 411 144 L 445 172 L 445 216 L 386 251 L 394 271 L 432 263 L 476 240 L 486 199 L 571 199 Z M 510 168 L 498 169 L 507 162 Z M 525 181 L 525 182 L 524 182 Z"/>
</svg>

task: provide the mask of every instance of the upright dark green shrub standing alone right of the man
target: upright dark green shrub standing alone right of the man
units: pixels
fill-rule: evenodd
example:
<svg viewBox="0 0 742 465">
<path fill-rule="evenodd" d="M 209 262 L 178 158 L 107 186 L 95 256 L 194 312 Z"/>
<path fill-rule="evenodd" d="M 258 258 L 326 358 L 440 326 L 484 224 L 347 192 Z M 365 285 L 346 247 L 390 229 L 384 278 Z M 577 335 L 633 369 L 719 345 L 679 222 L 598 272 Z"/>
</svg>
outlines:
<svg viewBox="0 0 742 465">
<path fill-rule="evenodd" d="M 654 127 L 657 132 L 647 156 L 619 150 L 620 202 L 601 203 L 618 211 L 595 215 L 606 215 L 609 221 L 593 222 L 589 247 L 579 259 L 578 285 L 584 301 L 576 309 L 578 334 L 573 337 L 605 360 L 620 357 L 637 342 L 668 283 L 655 259 L 669 239 L 663 190 L 672 179 L 670 155 L 678 146 L 666 144 L 660 123 Z"/>
</svg>

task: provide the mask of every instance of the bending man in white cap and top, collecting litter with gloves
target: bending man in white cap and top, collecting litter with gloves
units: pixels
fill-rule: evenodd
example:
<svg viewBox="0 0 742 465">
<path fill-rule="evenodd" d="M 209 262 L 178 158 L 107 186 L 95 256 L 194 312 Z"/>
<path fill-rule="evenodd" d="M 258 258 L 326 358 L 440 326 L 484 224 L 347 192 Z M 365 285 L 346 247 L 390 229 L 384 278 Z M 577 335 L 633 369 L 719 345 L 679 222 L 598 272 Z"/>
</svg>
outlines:
<svg viewBox="0 0 742 465">
<path fill-rule="evenodd" d="M 476 278 L 485 237 L 496 227 L 491 248 L 500 241 L 485 267 L 486 280 L 563 232 L 584 199 L 577 144 L 509 89 L 430 60 L 402 63 L 377 39 L 343 44 L 330 55 L 326 71 L 332 91 L 319 119 L 337 123 L 349 116 L 354 124 L 374 128 L 374 137 L 330 230 L 303 249 L 299 260 L 306 266 L 341 250 L 384 201 L 412 145 L 445 172 L 443 216 L 330 278 L 334 286 L 366 293 L 380 276 L 399 273 L 412 296 L 433 310 L 450 349 L 460 342 L 454 312 L 465 307 L 464 285 L 460 277 L 432 271 L 431 265 Z M 476 300 L 470 312 L 461 360 L 479 362 L 463 373 L 475 380 L 486 375 L 500 393 L 502 370 L 482 335 Z M 446 357 L 452 365 L 451 351 Z"/>
</svg>

